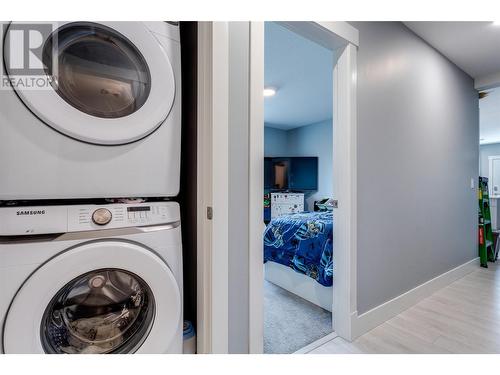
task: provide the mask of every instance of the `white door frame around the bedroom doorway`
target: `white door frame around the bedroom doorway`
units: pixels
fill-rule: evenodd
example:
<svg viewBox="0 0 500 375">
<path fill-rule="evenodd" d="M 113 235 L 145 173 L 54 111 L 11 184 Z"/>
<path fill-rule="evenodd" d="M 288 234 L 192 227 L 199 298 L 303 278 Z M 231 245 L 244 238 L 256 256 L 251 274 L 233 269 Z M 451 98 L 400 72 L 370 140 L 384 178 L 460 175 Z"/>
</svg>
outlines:
<svg viewBox="0 0 500 375">
<path fill-rule="evenodd" d="M 339 55 L 334 68 L 334 327 L 352 338 L 356 316 L 356 79 L 358 31 L 346 22 L 283 22 L 285 27 Z M 250 33 L 250 352 L 263 351 L 262 197 L 264 194 L 264 27 Z M 339 37 L 343 39 L 339 44 Z"/>
</svg>

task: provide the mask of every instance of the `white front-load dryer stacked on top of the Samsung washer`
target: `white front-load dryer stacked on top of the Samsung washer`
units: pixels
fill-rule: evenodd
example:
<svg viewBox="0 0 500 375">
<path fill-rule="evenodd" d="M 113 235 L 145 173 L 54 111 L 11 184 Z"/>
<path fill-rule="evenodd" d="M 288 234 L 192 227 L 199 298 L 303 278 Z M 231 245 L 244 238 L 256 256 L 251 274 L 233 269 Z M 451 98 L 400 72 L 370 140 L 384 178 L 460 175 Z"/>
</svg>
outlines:
<svg viewBox="0 0 500 375">
<path fill-rule="evenodd" d="M 51 83 L 0 90 L 0 200 L 176 196 L 179 26 L 50 24 L 31 78 Z M 6 74 L 18 82 L 25 24 L 2 26 Z"/>
</svg>

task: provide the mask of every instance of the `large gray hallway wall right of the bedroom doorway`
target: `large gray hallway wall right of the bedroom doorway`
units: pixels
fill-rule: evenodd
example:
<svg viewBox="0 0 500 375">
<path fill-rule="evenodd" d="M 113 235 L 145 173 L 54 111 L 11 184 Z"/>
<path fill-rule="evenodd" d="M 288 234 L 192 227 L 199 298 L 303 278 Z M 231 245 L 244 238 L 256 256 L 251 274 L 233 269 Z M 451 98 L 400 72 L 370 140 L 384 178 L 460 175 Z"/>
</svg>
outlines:
<svg viewBox="0 0 500 375">
<path fill-rule="evenodd" d="M 356 22 L 358 313 L 477 256 L 473 80 L 396 22 Z"/>
</svg>

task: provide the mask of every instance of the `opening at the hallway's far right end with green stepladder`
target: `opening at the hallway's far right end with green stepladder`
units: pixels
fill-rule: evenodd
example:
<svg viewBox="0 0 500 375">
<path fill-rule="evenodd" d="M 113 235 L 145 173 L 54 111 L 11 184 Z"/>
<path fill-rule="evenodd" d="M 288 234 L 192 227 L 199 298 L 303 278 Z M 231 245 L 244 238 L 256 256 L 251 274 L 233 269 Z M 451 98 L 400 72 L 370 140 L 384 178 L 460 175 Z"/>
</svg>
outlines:
<svg viewBox="0 0 500 375">
<path fill-rule="evenodd" d="M 500 87 L 479 92 L 479 255 L 487 267 L 500 242 Z"/>
</svg>

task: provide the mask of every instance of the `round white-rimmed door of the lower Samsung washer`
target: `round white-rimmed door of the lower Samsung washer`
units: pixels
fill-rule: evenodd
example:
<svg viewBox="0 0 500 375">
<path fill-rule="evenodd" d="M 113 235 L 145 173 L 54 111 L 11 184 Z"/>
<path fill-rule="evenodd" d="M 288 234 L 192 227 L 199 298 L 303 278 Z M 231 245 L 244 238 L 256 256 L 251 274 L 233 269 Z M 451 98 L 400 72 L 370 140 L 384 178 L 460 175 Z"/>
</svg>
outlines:
<svg viewBox="0 0 500 375">
<path fill-rule="evenodd" d="M 89 242 L 45 263 L 15 296 L 5 353 L 161 353 L 181 320 L 174 275 L 151 250 Z"/>
</svg>

